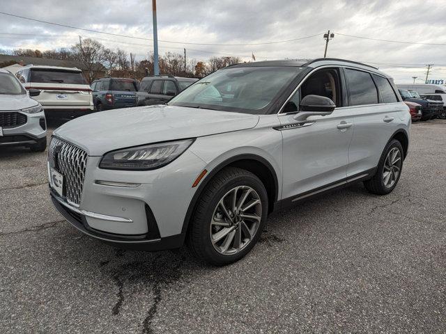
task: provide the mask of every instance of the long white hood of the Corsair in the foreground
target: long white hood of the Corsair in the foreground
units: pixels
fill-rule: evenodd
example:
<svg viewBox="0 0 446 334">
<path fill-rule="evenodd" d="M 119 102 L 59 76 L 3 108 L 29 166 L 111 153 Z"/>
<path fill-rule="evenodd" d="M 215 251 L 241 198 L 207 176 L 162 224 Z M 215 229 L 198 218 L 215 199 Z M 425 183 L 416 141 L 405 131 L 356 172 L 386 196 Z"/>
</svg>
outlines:
<svg viewBox="0 0 446 334">
<path fill-rule="evenodd" d="M 259 116 L 183 106 L 140 106 L 71 120 L 54 135 L 91 156 L 160 141 L 195 138 L 255 127 Z"/>
</svg>

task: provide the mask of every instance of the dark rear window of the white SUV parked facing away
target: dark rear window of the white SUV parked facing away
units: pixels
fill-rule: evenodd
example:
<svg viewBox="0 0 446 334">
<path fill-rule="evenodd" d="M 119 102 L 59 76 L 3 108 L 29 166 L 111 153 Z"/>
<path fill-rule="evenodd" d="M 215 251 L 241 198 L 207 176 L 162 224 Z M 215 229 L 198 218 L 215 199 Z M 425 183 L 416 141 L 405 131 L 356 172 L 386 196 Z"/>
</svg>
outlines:
<svg viewBox="0 0 446 334">
<path fill-rule="evenodd" d="M 31 68 L 31 82 L 86 85 L 82 72 L 52 68 Z"/>
</svg>

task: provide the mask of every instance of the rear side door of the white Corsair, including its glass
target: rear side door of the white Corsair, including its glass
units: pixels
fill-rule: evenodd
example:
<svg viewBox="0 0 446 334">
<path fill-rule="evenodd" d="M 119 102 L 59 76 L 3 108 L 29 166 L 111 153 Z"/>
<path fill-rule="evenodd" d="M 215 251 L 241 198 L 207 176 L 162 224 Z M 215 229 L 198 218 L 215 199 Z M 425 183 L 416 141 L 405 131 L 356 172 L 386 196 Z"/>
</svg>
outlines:
<svg viewBox="0 0 446 334">
<path fill-rule="evenodd" d="M 399 102 L 387 78 L 355 68 L 344 68 L 344 73 L 348 108 L 355 122 L 348 150 L 347 177 L 351 177 L 378 166 L 387 141 L 397 131 L 400 113 L 407 113 L 407 106 Z"/>
</svg>

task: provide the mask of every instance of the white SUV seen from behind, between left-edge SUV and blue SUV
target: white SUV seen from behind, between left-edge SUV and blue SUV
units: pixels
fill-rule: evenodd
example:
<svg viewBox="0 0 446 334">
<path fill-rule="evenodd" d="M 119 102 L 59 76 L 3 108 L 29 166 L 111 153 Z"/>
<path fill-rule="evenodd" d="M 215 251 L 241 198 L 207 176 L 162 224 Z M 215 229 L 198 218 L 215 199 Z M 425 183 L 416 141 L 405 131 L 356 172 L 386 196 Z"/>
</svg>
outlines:
<svg viewBox="0 0 446 334">
<path fill-rule="evenodd" d="M 82 116 L 93 111 L 91 88 L 75 67 L 28 65 L 15 75 L 26 89 L 40 90 L 34 99 L 42 104 L 47 118 Z"/>
</svg>

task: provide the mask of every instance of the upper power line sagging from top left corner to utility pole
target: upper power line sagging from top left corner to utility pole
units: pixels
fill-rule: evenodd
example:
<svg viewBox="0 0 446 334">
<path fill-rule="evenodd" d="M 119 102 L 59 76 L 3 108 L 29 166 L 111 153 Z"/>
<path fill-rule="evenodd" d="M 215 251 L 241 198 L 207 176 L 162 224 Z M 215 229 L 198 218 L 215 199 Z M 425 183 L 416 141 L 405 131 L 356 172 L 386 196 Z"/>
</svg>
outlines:
<svg viewBox="0 0 446 334">
<path fill-rule="evenodd" d="M 152 38 L 134 37 L 134 36 L 130 36 L 130 35 L 121 35 L 119 33 L 106 33 L 105 31 L 98 31 L 98 30 L 93 30 L 93 29 L 79 28 L 77 26 L 70 26 L 68 24 L 60 24 L 60 23 L 54 23 L 54 22 L 49 22 L 49 21 L 43 21 L 41 19 L 33 19 L 31 17 L 24 17 L 24 16 L 20 16 L 20 15 L 11 14 L 11 13 L 0 12 L 0 14 L 12 16 L 12 17 L 17 17 L 17 18 L 20 18 L 20 19 L 28 19 L 28 20 L 34 21 L 34 22 L 40 22 L 40 23 L 45 23 L 45 24 L 52 24 L 54 26 L 63 26 L 65 28 L 70 28 L 70 29 L 89 31 L 90 33 L 102 33 L 102 34 L 105 34 L 105 35 L 112 35 L 112 36 L 117 36 L 117 37 L 125 37 L 125 38 L 134 38 L 134 39 L 137 39 L 137 40 L 151 40 L 151 41 L 153 41 Z M 300 38 L 293 38 L 291 40 L 276 40 L 276 41 L 272 41 L 272 42 L 245 43 L 245 44 L 194 43 L 194 42 L 178 42 L 178 41 L 174 41 L 174 40 L 158 40 L 158 42 L 174 43 L 174 44 L 181 44 L 181 45 L 207 45 L 207 46 L 225 46 L 226 45 L 226 46 L 236 47 L 236 46 L 269 45 L 269 44 L 277 44 L 277 43 L 294 42 L 296 40 L 304 40 L 306 38 L 312 38 L 312 37 L 315 37 L 315 36 L 318 36 L 318 35 L 322 35 L 322 33 L 316 33 L 314 35 L 309 35 L 309 36 L 300 37 Z"/>
</svg>

